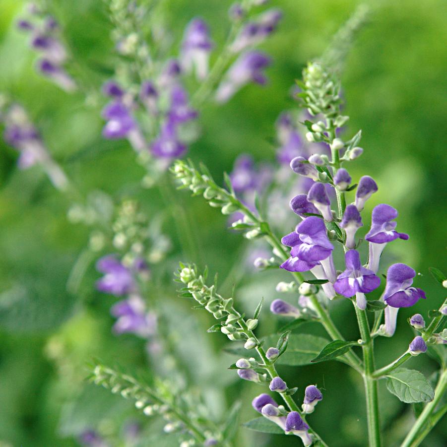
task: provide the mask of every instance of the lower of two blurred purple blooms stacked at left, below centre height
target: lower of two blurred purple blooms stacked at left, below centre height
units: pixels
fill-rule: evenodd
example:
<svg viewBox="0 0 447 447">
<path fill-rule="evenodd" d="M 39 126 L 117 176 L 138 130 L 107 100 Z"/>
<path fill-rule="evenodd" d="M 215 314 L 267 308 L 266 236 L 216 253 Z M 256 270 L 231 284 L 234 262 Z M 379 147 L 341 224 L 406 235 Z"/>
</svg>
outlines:
<svg viewBox="0 0 447 447">
<path fill-rule="evenodd" d="M 116 334 L 133 333 L 147 338 L 155 333 L 157 319 L 153 313 L 146 312 L 143 300 L 137 295 L 118 302 L 110 313 L 118 318 L 113 326 Z"/>
</svg>

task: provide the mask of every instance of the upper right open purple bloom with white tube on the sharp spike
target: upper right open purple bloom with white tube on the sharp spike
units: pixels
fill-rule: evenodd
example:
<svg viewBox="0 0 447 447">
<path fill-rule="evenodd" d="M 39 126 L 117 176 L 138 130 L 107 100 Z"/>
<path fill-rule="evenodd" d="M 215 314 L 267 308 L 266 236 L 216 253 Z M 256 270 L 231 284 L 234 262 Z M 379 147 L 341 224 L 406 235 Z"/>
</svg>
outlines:
<svg viewBox="0 0 447 447">
<path fill-rule="evenodd" d="M 369 268 L 374 272 L 379 270 L 380 256 L 388 242 L 395 239 L 407 240 L 408 235 L 397 233 L 396 222 L 392 222 L 397 217 L 397 211 L 385 203 L 377 205 L 373 209 L 371 229 L 365 236 L 369 244 Z"/>
</svg>

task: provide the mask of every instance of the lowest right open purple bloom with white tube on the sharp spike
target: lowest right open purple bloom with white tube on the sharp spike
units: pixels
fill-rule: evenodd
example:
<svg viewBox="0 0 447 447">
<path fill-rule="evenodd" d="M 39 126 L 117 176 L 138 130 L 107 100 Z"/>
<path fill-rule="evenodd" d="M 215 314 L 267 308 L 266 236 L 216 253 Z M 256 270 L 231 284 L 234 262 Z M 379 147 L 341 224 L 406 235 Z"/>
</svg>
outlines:
<svg viewBox="0 0 447 447">
<path fill-rule="evenodd" d="M 416 272 L 405 264 L 397 263 L 388 268 L 386 287 L 383 293 L 383 300 L 388 306 L 385 308 L 385 324 L 382 329 L 389 337 L 396 330 L 399 308 L 411 307 L 420 298 L 426 298 L 423 290 L 412 287 L 415 276 Z"/>
</svg>

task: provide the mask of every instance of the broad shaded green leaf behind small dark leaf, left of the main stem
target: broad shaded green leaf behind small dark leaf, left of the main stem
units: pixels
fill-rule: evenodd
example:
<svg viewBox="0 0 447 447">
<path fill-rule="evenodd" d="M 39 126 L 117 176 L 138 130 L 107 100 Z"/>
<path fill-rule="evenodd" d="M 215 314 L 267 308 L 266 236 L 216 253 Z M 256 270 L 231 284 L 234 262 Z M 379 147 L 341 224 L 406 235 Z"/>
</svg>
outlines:
<svg viewBox="0 0 447 447">
<path fill-rule="evenodd" d="M 273 346 L 276 335 L 265 339 L 266 346 Z M 311 334 L 290 334 L 287 351 L 277 360 L 278 365 L 302 366 L 310 365 L 311 360 L 326 346 L 326 338 Z"/>
</svg>

